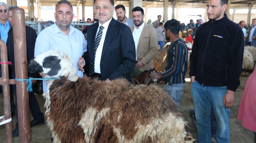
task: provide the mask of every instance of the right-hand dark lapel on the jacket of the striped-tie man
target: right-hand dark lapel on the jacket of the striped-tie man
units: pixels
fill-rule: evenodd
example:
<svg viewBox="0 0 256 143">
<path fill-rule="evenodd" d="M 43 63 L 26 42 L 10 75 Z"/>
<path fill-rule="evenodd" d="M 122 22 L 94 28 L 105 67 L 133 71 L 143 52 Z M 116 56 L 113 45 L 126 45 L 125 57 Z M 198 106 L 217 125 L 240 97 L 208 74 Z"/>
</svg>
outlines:
<svg viewBox="0 0 256 143">
<path fill-rule="evenodd" d="M 111 42 L 111 39 L 112 39 L 112 37 L 113 37 L 113 35 L 115 33 L 116 22 L 117 21 L 112 17 L 112 19 L 110 21 L 110 24 L 109 24 L 109 27 L 108 27 L 108 30 L 107 30 L 107 33 L 106 33 L 105 40 L 104 40 L 104 44 L 103 44 L 103 48 L 102 48 L 102 53 L 101 53 L 101 59 L 104 56 L 105 52 L 107 51 L 109 43 Z"/>
</svg>

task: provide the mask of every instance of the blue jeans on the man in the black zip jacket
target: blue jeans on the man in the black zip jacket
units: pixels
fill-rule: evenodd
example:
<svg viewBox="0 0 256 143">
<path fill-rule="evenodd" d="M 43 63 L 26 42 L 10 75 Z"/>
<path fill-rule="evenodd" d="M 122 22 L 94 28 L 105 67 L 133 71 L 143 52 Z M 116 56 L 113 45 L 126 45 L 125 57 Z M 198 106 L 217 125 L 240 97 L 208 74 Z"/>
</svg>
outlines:
<svg viewBox="0 0 256 143">
<path fill-rule="evenodd" d="M 230 108 L 223 105 L 223 97 L 227 86 L 211 87 L 200 85 L 197 81 L 191 83 L 191 95 L 194 100 L 197 141 L 211 142 L 210 112 L 213 112 L 217 122 L 216 140 L 219 143 L 229 143 Z"/>
</svg>

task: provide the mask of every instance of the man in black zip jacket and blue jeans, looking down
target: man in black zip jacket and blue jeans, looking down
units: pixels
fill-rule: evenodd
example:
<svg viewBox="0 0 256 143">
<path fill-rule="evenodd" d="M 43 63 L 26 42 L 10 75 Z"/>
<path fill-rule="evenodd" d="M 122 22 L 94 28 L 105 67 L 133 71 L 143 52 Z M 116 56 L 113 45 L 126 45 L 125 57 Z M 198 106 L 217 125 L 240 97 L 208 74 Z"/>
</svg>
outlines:
<svg viewBox="0 0 256 143">
<path fill-rule="evenodd" d="M 240 84 L 244 36 L 224 14 L 226 9 L 227 0 L 208 0 L 209 21 L 198 27 L 192 47 L 189 74 L 199 143 L 211 142 L 211 108 L 217 122 L 217 142 L 229 142 L 228 118 Z"/>
</svg>

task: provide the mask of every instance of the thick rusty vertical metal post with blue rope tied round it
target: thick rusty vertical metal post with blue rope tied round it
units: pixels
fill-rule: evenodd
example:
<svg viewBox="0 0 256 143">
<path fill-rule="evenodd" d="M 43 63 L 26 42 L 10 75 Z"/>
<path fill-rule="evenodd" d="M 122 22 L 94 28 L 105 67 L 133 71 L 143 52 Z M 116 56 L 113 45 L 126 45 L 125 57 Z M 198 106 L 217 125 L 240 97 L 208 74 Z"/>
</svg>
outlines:
<svg viewBox="0 0 256 143">
<path fill-rule="evenodd" d="M 16 72 L 16 78 L 28 79 L 25 12 L 22 8 L 14 8 L 12 10 L 12 14 L 15 70 L 18 71 Z M 26 81 L 17 81 L 16 89 L 19 122 L 19 142 L 29 143 L 31 141 L 29 124 L 29 94 L 26 90 Z"/>
</svg>

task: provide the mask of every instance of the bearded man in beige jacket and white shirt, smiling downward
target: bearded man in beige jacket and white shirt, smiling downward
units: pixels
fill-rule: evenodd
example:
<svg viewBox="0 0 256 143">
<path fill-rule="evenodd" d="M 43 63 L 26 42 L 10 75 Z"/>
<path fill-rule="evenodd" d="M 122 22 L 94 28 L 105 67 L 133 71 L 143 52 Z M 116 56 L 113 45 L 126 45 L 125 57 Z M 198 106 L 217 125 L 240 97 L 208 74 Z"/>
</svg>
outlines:
<svg viewBox="0 0 256 143">
<path fill-rule="evenodd" d="M 132 78 L 135 78 L 140 73 L 150 68 L 153 68 L 153 58 L 157 53 L 157 30 L 148 24 L 143 19 L 144 11 L 141 7 L 134 7 L 132 10 L 134 26 L 131 26 L 133 33 L 136 63 L 131 71 Z"/>
</svg>

